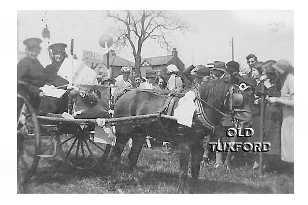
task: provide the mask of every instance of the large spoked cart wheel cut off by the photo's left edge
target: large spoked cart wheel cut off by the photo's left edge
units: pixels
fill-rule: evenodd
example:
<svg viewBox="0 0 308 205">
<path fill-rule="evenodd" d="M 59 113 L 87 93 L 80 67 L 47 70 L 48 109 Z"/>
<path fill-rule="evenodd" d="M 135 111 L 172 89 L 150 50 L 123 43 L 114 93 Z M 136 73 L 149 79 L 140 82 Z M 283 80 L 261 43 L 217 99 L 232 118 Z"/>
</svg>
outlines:
<svg viewBox="0 0 308 205">
<path fill-rule="evenodd" d="M 38 165 L 41 150 L 40 128 L 32 106 L 17 94 L 17 186 L 31 178 Z"/>
</svg>

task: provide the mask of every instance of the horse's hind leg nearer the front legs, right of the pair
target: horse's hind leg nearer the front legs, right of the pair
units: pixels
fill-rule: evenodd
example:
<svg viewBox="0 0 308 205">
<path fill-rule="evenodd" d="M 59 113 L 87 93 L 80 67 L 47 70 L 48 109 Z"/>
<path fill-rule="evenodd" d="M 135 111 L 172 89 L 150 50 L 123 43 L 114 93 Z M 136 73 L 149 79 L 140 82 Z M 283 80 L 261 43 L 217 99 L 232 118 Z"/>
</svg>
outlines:
<svg viewBox="0 0 308 205">
<path fill-rule="evenodd" d="M 132 171 L 133 180 L 136 185 L 139 185 L 141 180 L 137 170 L 137 161 L 139 154 L 142 150 L 144 144 L 144 138 L 140 136 L 136 136 L 132 138 L 132 147 L 128 154 L 128 159 L 130 162 L 130 169 Z"/>
</svg>

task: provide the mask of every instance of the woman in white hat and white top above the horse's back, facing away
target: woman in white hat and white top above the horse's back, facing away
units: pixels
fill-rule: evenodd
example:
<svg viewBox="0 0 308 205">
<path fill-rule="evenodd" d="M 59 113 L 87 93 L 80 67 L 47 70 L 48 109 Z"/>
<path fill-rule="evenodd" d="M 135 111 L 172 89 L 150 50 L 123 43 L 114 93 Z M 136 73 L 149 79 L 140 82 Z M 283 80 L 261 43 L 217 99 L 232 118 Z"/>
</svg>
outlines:
<svg viewBox="0 0 308 205">
<path fill-rule="evenodd" d="M 170 75 L 167 83 L 167 89 L 181 92 L 183 89 L 183 82 L 180 77 L 178 77 L 179 69 L 176 65 L 170 64 L 167 66 L 167 74 Z"/>
</svg>

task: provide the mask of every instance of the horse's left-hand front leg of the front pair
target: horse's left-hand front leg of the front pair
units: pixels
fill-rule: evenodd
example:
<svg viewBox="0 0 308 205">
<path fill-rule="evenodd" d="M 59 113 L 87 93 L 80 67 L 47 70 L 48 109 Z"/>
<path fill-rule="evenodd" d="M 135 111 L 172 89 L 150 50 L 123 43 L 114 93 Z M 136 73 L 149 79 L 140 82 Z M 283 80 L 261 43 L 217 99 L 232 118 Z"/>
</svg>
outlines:
<svg viewBox="0 0 308 205">
<path fill-rule="evenodd" d="M 187 143 L 187 142 L 186 142 Z M 179 144 L 179 159 L 180 159 L 180 176 L 178 194 L 184 194 L 184 189 L 187 180 L 187 170 L 189 162 L 189 147 L 184 142 Z"/>
</svg>

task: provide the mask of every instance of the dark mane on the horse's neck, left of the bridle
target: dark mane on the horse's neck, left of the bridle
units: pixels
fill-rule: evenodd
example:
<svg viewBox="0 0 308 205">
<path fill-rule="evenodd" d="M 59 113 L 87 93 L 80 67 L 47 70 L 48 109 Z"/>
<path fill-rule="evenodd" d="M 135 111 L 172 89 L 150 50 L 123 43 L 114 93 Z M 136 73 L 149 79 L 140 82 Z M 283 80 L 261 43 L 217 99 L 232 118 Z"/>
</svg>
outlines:
<svg viewBox="0 0 308 205">
<path fill-rule="evenodd" d="M 222 108 L 230 84 L 226 79 L 206 81 L 199 87 L 200 97 L 215 108 Z"/>
</svg>

